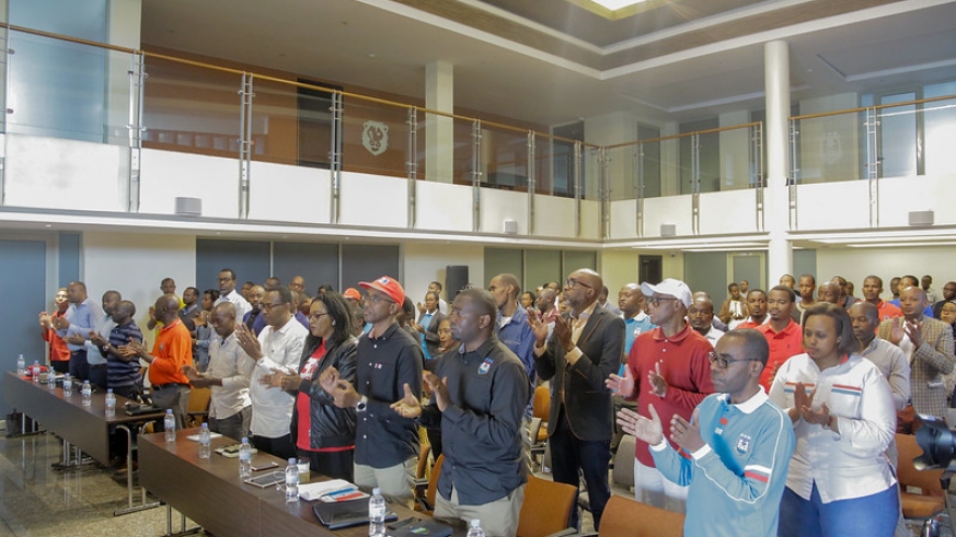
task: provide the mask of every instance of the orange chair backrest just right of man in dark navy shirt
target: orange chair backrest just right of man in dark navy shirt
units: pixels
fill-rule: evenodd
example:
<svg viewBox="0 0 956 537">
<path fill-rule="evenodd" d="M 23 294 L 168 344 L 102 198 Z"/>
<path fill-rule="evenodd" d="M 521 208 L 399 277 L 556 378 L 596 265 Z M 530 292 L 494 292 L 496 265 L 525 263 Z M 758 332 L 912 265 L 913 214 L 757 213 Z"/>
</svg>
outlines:
<svg viewBox="0 0 956 537">
<path fill-rule="evenodd" d="M 528 476 L 518 537 L 544 537 L 566 528 L 576 498 L 576 487 Z"/>
</svg>

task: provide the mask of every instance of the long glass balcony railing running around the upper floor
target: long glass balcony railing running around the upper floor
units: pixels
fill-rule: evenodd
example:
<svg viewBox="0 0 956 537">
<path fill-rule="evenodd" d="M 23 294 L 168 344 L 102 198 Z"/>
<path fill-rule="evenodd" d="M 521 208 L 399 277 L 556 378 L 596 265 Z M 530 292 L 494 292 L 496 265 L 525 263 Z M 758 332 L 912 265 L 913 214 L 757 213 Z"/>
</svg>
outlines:
<svg viewBox="0 0 956 537">
<path fill-rule="evenodd" d="M 765 180 L 762 122 L 598 147 L 301 80 L 28 28 L 7 35 L 11 133 L 131 147 L 141 138 L 150 149 L 595 201 Z M 948 94 L 791 118 L 793 180 L 956 171 L 956 96 L 940 91 Z"/>
</svg>

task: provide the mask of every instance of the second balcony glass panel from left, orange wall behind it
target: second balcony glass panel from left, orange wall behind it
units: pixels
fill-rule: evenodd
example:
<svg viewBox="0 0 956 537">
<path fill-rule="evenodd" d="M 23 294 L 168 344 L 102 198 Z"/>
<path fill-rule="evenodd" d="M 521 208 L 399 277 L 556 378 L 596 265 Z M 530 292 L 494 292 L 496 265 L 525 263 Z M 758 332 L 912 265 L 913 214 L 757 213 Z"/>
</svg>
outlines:
<svg viewBox="0 0 956 537">
<path fill-rule="evenodd" d="M 147 57 L 143 148 L 238 157 L 242 75 Z"/>
</svg>

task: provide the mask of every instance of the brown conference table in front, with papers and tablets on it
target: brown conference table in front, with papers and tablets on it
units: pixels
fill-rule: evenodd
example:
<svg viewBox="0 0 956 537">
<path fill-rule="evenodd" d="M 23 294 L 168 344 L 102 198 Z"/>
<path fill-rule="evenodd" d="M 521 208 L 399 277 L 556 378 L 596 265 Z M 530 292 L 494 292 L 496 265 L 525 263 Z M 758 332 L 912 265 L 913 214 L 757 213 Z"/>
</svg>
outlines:
<svg viewBox="0 0 956 537">
<path fill-rule="evenodd" d="M 215 453 L 218 447 L 235 444 L 226 436 L 214 439 L 209 458 L 199 458 L 199 443 L 188 440 L 198 429 L 176 431 L 176 441 L 168 443 L 162 433 L 139 437 L 139 482 L 151 494 L 196 522 L 212 535 L 232 537 L 337 536 L 366 537 L 368 526 L 360 525 L 331 530 L 312 512 L 312 502 L 299 500 L 287 503 L 285 492 L 276 486 L 258 488 L 239 477 L 239 459 Z M 275 462 L 268 471 L 281 471 L 286 462 L 263 452 L 253 455 L 252 465 L 258 467 Z M 255 472 L 257 476 L 262 472 Z M 318 475 L 300 475 L 302 483 L 324 481 Z M 390 504 L 399 520 L 427 518 L 401 505 Z M 168 511 L 168 535 L 172 535 L 172 514 Z M 183 527 L 185 532 L 185 527 Z M 464 535 L 456 530 L 453 535 Z"/>
</svg>

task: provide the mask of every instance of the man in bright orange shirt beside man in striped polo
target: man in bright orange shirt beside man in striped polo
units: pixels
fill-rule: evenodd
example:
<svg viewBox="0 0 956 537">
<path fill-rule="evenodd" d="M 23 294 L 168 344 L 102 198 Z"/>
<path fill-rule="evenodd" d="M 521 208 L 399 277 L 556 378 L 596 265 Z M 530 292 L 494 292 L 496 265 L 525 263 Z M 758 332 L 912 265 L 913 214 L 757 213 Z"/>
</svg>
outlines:
<svg viewBox="0 0 956 537">
<path fill-rule="evenodd" d="M 162 329 L 156 338 L 152 352 L 147 352 L 138 341 L 130 341 L 127 348 L 149 363 L 153 405 L 173 409 L 178 427 L 184 427 L 189 402 L 189 380 L 183 374 L 183 366 L 193 365 L 193 338 L 183 325 L 178 311 L 180 299 L 176 295 L 160 296 L 156 301 L 156 318 L 162 323 Z"/>
</svg>

